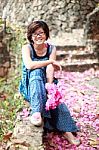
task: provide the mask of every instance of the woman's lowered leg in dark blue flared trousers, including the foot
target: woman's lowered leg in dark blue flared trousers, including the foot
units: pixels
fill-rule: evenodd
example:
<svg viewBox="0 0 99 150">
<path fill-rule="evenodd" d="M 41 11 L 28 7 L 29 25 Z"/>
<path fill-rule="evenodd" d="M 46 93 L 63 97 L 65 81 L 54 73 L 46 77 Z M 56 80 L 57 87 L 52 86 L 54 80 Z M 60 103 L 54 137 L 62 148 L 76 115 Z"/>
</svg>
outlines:
<svg viewBox="0 0 99 150">
<path fill-rule="evenodd" d="M 70 115 L 70 112 L 65 104 L 59 105 L 56 109 L 51 110 L 51 119 L 45 118 L 45 128 L 49 130 L 58 130 L 63 133 L 63 136 L 71 143 L 79 145 L 80 141 L 72 134 L 77 132 L 75 121 Z"/>
</svg>

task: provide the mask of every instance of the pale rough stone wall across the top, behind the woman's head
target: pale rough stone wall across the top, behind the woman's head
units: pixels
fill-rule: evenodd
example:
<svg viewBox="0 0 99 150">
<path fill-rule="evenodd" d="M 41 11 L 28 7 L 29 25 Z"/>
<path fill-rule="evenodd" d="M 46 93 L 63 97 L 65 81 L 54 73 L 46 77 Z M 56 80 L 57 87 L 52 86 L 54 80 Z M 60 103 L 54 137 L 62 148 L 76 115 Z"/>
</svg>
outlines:
<svg viewBox="0 0 99 150">
<path fill-rule="evenodd" d="M 7 19 L 19 25 L 27 25 L 31 20 L 45 20 L 55 36 L 59 32 L 82 28 L 87 14 L 98 2 L 99 0 L 3 0 L 0 16 L 6 8 Z"/>
</svg>

